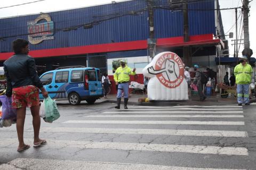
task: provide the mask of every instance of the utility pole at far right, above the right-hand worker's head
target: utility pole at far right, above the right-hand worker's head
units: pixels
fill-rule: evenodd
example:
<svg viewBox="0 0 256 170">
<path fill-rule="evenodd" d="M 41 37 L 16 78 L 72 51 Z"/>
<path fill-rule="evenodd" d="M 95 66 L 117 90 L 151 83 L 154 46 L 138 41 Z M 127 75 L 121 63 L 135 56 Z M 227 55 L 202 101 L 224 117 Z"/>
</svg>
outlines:
<svg viewBox="0 0 256 170">
<path fill-rule="evenodd" d="M 243 55 L 247 56 L 249 61 L 252 56 L 252 49 L 250 49 L 250 37 L 249 37 L 249 0 L 243 0 L 243 12 L 244 12 L 244 50 Z"/>
</svg>

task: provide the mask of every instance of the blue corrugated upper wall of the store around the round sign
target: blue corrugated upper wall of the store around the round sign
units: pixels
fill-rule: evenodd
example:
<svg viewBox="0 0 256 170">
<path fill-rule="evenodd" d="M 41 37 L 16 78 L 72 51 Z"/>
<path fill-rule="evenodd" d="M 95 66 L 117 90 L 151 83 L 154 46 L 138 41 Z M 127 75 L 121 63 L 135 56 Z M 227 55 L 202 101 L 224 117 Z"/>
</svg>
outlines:
<svg viewBox="0 0 256 170">
<path fill-rule="evenodd" d="M 158 1 L 166 4 L 167 1 Z M 115 4 L 99 5 L 74 10 L 47 13 L 54 22 L 54 39 L 30 45 L 30 50 L 65 48 L 86 45 L 119 43 L 146 40 L 149 37 L 146 1 L 126 1 Z M 189 3 L 189 34 L 215 34 L 214 0 Z M 137 15 L 124 15 L 135 11 Z M 28 39 L 27 22 L 34 21 L 40 14 L 0 19 L 0 52 L 11 52 L 11 42 L 16 38 Z M 110 19 L 113 18 L 113 19 Z M 110 20 L 106 20 L 110 19 Z M 102 21 L 106 20 L 106 21 Z M 94 22 L 102 21 L 102 22 Z M 63 31 L 87 23 L 97 23 L 93 28 Z M 154 16 L 155 38 L 183 36 L 183 12 L 156 9 Z"/>
</svg>

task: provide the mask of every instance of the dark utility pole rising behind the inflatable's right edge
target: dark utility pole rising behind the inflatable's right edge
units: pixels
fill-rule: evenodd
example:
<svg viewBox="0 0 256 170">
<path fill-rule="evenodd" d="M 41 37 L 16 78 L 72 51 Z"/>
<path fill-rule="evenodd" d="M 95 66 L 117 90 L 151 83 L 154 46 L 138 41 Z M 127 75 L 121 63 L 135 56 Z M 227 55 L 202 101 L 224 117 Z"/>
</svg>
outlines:
<svg viewBox="0 0 256 170">
<path fill-rule="evenodd" d="M 188 1 L 183 0 L 183 40 L 189 41 L 189 25 L 188 25 Z M 191 66 L 190 47 L 183 47 L 183 63 L 186 66 Z"/>
</svg>

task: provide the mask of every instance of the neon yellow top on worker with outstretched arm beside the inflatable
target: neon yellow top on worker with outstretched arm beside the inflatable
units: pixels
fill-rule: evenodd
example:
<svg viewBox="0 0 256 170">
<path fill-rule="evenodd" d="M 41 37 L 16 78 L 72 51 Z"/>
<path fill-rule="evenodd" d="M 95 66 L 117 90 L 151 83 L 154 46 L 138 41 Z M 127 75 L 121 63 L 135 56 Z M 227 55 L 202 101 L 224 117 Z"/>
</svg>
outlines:
<svg viewBox="0 0 256 170">
<path fill-rule="evenodd" d="M 132 72 L 131 68 L 127 65 L 124 68 L 119 66 L 114 74 L 114 80 L 116 82 L 128 82 L 130 80 L 129 74 L 135 75 L 136 72 Z"/>
</svg>

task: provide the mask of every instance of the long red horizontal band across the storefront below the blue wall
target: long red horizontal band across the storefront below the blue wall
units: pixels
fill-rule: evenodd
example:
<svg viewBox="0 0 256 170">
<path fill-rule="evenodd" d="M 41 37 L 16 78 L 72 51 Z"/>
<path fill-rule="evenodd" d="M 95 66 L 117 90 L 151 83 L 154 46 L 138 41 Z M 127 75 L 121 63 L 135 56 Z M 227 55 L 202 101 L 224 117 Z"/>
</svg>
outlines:
<svg viewBox="0 0 256 170">
<path fill-rule="evenodd" d="M 183 41 L 183 37 L 159 38 L 156 46 L 161 47 L 182 47 L 182 46 L 197 46 L 197 45 L 218 45 L 223 42 L 220 39 L 213 39 L 212 34 L 190 36 L 188 42 Z M 42 50 L 31 50 L 29 55 L 38 57 L 53 57 L 53 56 L 68 56 L 81 55 L 87 53 L 107 53 L 118 52 L 125 50 L 147 49 L 147 40 L 127 41 L 122 43 L 110 43 L 99 45 L 88 45 L 78 47 L 53 48 Z M 7 60 L 13 53 L 0 53 L 0 61 Z"/>
</svg>

